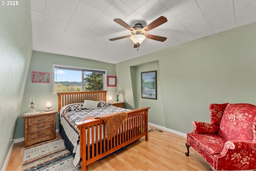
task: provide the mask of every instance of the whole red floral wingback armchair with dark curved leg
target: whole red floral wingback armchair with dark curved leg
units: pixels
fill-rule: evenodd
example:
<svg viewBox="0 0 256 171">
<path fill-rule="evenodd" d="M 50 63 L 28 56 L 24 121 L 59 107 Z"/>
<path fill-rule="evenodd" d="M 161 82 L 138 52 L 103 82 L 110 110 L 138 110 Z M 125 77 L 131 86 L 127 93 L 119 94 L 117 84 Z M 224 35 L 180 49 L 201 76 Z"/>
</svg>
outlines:
<svg viewBox="0 0 256 171">
<path fill-rule="evenodd" d="M 193 121 L 186 147 L 195 149 L 213 170 L 256 169 L 256 106 L 211 104 L 210 123 Z"/>
</svg>

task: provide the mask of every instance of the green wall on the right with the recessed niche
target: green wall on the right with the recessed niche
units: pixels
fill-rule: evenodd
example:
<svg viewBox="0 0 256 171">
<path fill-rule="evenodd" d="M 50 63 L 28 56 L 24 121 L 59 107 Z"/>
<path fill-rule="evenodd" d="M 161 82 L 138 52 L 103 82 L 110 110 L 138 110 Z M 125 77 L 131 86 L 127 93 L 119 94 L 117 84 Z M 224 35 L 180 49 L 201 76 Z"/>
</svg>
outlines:
<svg viewBox="0 0 256 171">
<path fill-rule="evenodd" d="M 181 133 L 193 130 L 192 121 L 210 122 L 210 103 L 256 105 L 255 28 L 248 24 L 116 64 L 118 87 L 125 89 L 120 100 L 151 107 L 150 123 Z M 155 61 L 159 68 L 148 64 Z M 140 72 L 156 69 L 159 98 L 138 98 Z"/>
</svg>

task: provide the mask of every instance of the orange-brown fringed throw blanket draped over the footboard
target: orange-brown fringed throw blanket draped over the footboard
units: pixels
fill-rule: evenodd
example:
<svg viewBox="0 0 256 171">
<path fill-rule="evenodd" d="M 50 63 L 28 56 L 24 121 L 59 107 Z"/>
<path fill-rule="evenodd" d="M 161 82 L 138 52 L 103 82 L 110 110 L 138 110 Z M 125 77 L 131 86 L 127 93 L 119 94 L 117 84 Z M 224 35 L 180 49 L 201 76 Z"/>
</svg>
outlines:
<svg viewBox="0 0 256 171">
<path fill-rule="evenodd" d="M 82 119 L 82 121 L 89 119 L 103 119 L 107 125 L 107 139 L 110 140 L 120 127 L 120 125 L 128 118 L 128 114 L 123 111 L 111 113 L 103 116 L 88 116 Z"/>
</svg>

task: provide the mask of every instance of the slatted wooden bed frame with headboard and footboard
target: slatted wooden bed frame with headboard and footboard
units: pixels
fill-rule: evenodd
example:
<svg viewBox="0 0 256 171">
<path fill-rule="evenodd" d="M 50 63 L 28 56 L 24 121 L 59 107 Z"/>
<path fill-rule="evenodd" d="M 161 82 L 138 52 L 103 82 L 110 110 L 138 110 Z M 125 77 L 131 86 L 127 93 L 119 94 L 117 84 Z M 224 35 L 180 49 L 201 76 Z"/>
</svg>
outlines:
<svg viewBox="0 0 256 171">
<path fill-rule="evenodd" d="M 78 92 L 61 92 L 58 95 L 58 111 L 61 107 L 71 103 L 83 103 L 84 100 L 106 101 L 107 91 L 78 91 Z M 82 170 L 86 170 L 86 166 L 94 161 L 105 157 L 114 151 L 125 147 L 126 145 L 145 136 L 148 141 L 148 109 L 143 107 L 127 111 L 128 119 L 116 130 L 116 136 L 110 140 L 106 137 L 106 123 L 103 119 L 90 119 L 77 122 L 76 125 L 80 130 L 80 157 L 82 159 Z M 87 131 L 90 130 L 91 131 Z M 103 130 L 103 131 L 102 131 Z M 90 132 L 93 133 L 90 136 Z M 98 132 L 98 133 L 97 133 Z M 105 139 L 105 140 L 102 140 Z M 101 141 L 100 141 L 101 140 Z M 87 142 L 86 142 L 87 141 Z M 98 142 L 92 143 L 90 142 Z M 87 153 L 87 154 L 86 154 Z"/>
</svg>

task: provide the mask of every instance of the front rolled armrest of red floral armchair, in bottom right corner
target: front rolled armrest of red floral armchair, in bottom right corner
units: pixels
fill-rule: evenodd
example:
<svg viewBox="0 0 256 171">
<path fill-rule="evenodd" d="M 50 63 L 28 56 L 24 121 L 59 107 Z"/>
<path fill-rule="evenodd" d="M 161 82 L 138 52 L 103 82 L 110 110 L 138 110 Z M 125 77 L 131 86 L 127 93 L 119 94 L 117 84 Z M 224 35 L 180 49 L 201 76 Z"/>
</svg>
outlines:
<svg viewBox="0 0 256 171">
<path fill-rule="evenodd" d="M 214 155 L 216 170 L 250 170 L 256 168 L 256 144 L 248 141 L 227 141 L 222 152 Z"/>
</svg>

